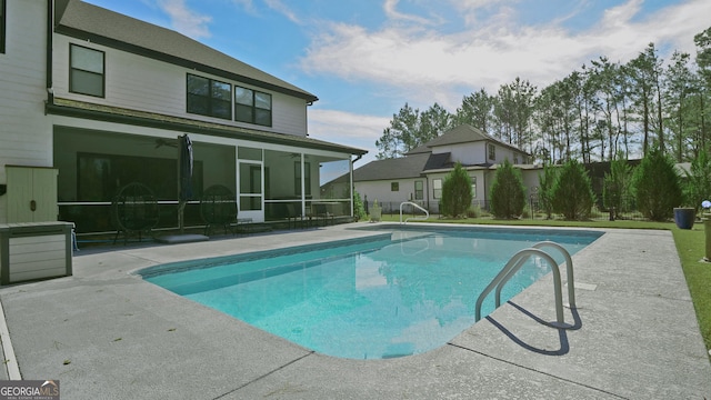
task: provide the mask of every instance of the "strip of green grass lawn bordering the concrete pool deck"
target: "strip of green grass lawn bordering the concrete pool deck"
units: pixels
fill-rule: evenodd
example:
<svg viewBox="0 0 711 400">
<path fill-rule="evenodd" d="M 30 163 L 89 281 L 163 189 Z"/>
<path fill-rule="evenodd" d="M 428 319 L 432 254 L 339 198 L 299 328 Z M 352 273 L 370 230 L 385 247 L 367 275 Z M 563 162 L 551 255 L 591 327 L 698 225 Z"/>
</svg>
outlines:
<svg viewBox="0 0 711 400">
<path fill-rule="evenodd" d="M 382 216 L 383 221 L 399 222 L 400 216 Z M 459 220 L 430 218 L 429 222 L 471 223 L 471 224 L 509 224 L 535 227 L 584 227 L 584 228 L 625 228 L 625 229 L 665 229 L 674 237 L 681 267 L 687 277 L 701 336 L 711 349 L 711 263 L 702 262 L 705 256 L 705 233 L 703 223 L 697 222 L 691 230 L 679 229 L 673 222 L 648 221 L 564 221 L 564 220 L 494 220 L 491 218 L 470 218 Z"/>
</svg>

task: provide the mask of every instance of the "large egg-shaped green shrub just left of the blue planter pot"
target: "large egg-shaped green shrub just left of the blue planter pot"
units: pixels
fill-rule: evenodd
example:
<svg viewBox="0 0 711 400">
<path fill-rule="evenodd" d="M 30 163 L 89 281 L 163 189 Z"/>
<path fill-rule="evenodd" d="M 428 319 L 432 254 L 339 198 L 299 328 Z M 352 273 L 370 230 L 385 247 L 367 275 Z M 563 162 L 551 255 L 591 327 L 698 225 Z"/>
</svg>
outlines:
<svg viewBox="0 0 711 400">
<path fill-rule="evenodd" d="M 633 187 L 638 209 L 652 221 L 671 218 L 683 201 L 674 163 L 659 150 L 652 150 L 637 167 Z"/>
</svg>

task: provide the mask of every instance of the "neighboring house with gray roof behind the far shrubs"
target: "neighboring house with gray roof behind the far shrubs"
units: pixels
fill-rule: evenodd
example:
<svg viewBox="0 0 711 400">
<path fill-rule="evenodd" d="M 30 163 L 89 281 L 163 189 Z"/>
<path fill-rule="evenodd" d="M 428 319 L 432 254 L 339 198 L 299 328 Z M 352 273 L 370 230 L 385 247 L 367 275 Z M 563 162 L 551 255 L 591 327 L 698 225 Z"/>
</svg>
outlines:
<svg viewBox="0 0 711 400">
<path fill-rule="evenodd" d="M 397 211 L 412 201 L 430 212 L 439 212 L 442 183 L 455 163 L 461 163 L 472 181 L 472 203 L 488 207 L 495 170 L 508 159 L 521 169 L 529 193 L 538 187 L 539 168 L 527 164 L 529 154 L 483 131 L 462 124 L 397 159 L 377 160 L 353 171 L 353 184 L 363 199 L 374 200 L 383 211 Z M 343 184 L 348 177 L 343 177 Z"/>
</svg>

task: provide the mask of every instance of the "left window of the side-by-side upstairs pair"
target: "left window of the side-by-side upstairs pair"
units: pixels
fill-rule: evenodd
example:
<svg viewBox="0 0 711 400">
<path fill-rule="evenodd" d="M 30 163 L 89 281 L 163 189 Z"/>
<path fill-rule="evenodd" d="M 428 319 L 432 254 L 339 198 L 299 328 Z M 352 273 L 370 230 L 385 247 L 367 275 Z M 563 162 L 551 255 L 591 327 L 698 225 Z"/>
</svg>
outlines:
<svg viewBox="0 0 711 400">
<path fill-rule="evenodd" d="M 188 112 L 232 119 L 232 86 L 188 73 Z"/>
</svg>

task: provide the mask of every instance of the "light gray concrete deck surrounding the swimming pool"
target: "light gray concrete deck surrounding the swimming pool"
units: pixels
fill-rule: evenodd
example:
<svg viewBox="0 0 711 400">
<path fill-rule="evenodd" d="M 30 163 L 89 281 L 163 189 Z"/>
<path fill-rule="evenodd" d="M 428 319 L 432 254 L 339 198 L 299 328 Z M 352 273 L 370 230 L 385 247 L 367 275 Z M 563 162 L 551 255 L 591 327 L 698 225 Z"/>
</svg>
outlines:
<svg viewBox="0 0 711 400">
<path fill-rule="evenodd" d="M 0 289 L 16 356 L 0 379 L 59 379 L 62 399 L 711 398 L 669 231 L 605 230 L 573 256 L 572 329 L 540 323 L 555 319 L 549 273 L 448 344 L 387 360 L 312 352 L 129 273 L 379 233 L 363 226 L 82 250 L 72 277 Z"/>
</svg>

